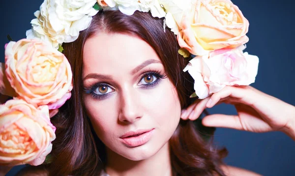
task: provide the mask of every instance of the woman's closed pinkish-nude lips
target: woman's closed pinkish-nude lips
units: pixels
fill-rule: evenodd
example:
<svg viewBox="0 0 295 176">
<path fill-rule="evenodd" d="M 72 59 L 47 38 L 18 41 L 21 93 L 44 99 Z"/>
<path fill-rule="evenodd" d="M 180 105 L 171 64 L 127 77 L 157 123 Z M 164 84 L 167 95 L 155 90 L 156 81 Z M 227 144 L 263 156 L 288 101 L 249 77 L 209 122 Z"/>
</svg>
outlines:
<svg viewBox="0 0 295 176">
<path fill-rule="evenodd" d="M 130 131 L 120 136 L 120 139 L 128 147 L 138 147 L 150 140 L 153 131 L 153 129 Z"/>
</svg>

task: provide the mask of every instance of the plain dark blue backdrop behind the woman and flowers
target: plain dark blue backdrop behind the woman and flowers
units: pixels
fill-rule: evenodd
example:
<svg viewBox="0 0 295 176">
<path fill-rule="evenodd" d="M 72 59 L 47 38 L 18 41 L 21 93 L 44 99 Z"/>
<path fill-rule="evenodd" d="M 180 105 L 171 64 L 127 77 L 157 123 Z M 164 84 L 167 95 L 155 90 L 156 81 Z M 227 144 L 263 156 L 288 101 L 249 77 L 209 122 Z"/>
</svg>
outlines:
<svg viewBox="0 0 295 176">
<path fill-rule="evenodd" d="M 253 87 L 295 105 L 295 2 L 292 0 L 232 0 L 249 20 L 247 49 L 260 58 Z M 15 41 L 26 37 L 33 12 L 42 0 L 1 0 L 0 53 L 9 34 Z M 283 112 L 284 109 L 281 109 Z M 231 105 L 218 105 L 210 113 L 234 114 Z M 281 132 L 251 133 L 218 128 L 218 146 L 225 146 L 229 165 L 252 170 L 265 176 L 295 175 L 295 142 Z M 8 175 L 13 176 L 19 167 Z"/>
</svg>

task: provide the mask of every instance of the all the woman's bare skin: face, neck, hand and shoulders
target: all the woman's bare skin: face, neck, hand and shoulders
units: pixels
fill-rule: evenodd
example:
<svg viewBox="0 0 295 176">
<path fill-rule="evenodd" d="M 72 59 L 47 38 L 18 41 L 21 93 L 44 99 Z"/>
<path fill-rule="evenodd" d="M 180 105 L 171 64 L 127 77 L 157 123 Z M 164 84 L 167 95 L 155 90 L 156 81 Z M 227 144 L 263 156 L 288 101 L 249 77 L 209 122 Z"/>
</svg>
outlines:
<svg viewBox="0 0 295 176">
<path fill-rule="evenodd" d="M 153 63 L 131 73 L 150 59 L 154 60 Z M 168 78 L 159 78 L 161 81 L 151 88 L 142 87 L 143 73 L 151 70 L 164 73 L 155 51 L 137 37 L 100 33 L 86 42 L 82 75 L 84 86 L 107 82 L 113 88 L 110 89 L 111 95 L 105 99 L 94 99 L 89 93 L 83 93 L 95 132 L 107 146 L 109 162 L 106 172 L 110 176 L 171 176 L 167 142 L 179 119 L 195 120 L 204 109 L 219 103 L 235 105 L 237 115 L 209 115 L 203 119 L 205 126 L 252 132 L 279 130 L 295 140 L 295 107 L 291 104 L 251 86 L 228 86 L 204 100 L 196 101 L 180 113 L 175 87 Z M 89 74 L 111 75 L 112 79 L 86 79 Z M 130 148 L 119 140 L 119 136 L 127 131 L 147 128 L 154 129 L 154 133 L 143 146 Z M 9 169 L 6 168 L 6 171 Z M 42 168 L 27 169 L 19 175 L 46 175 Z M 258 176 L 232 166 L 222 166 L 222 169 L 229 176 Z"/>
</svg>

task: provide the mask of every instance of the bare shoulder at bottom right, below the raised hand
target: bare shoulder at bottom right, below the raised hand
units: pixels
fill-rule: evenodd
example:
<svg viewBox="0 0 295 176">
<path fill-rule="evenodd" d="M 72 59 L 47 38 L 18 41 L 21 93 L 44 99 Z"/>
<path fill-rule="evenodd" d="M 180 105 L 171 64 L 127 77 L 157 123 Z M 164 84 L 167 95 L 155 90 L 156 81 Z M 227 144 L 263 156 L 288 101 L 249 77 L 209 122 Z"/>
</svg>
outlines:
<svg viewBox="0 0 295 176">
<path fill-rule="evenodd" d="M 221 169 L 227 176 L 262 176 L 252 171 L 242 169 L 242 168 L 237 168 L 234 166 L 223 165 L 221 166 Z"/>
</svg>

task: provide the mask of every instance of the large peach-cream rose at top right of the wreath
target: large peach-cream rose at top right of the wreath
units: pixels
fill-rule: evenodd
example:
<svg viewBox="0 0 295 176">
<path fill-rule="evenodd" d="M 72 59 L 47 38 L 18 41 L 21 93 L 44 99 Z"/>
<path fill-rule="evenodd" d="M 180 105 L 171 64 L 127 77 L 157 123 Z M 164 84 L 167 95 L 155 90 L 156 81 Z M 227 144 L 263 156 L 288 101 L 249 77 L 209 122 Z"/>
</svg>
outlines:
<svg viewBox="0 0 295 176">
<path fill-rule="evenodd" d="M 179 46 L 194 55 L 236 48 L 249 41 L 248 20 L 230 0 L 196 0 L 181 19 L 177 23 Z"/>
</svg>

